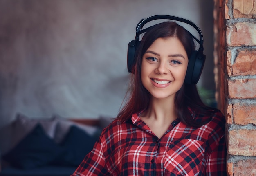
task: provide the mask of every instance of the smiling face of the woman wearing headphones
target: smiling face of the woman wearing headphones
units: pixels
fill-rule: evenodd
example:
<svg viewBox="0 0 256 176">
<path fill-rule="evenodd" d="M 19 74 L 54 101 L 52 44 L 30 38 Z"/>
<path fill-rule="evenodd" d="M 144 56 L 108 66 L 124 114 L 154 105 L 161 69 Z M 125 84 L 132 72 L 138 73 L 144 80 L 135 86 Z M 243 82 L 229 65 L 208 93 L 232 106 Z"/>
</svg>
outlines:
<svg viewBox="0 0 256 176">
<path fill-rule="evenodd" d="M 142 57 L 141 81 L 157 98 L 173 98 L 184 83 L 188 56 L 176 37 L 158 38 Z"/>
</svg>

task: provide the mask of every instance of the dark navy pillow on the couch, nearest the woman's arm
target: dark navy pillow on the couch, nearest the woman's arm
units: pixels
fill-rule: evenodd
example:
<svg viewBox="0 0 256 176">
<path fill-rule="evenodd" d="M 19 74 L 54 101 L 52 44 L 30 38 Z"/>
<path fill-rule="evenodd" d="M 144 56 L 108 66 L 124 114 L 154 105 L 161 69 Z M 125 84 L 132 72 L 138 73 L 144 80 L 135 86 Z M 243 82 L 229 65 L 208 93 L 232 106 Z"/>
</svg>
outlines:
<svg viewBox="0 0 256 176">
<path fill-rule="evenodd" d="M 65 149 L 65 152 L 54 161 L 54 164 L 79 166 L 85 155 L 93 149 L 97 139 L 97 137 L 90 136 L 81 128 L 72 125 L 64 141 L 60 144 Z"/>
</svg>

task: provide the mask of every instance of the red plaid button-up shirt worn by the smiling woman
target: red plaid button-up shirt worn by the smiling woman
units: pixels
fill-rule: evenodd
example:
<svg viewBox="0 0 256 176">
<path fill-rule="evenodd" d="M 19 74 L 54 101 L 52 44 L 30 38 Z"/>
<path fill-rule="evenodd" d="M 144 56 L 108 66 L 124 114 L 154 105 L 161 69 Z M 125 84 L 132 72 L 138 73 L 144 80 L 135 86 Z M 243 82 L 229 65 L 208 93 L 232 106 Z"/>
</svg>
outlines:
<svg viewBox="0 0 256 176">
<path fill-rule="evenodd" d="M 220 112 L 211 118 L 199 128 L 177 119 L 161 139 L 139 114 L 125 123 L 116 119 L 72 176 L 226 175 L 225 118 Z"/>
</svg>

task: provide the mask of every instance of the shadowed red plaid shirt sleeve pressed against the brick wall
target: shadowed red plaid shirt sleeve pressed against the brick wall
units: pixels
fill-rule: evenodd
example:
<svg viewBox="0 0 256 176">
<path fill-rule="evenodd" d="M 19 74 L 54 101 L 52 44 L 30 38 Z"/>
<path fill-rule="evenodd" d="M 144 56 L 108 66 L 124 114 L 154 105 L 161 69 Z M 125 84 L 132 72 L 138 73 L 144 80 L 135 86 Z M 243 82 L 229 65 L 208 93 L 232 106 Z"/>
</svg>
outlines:
<svg viewBox="0 0 256 176">
<path fill-rule="evenodd" d="M 226 176 L 226 156 L 227 148 L 225 143 L 225 136 L 223 136 L 216 149 L 207 157 L 207 176 Z"/>
</svg>

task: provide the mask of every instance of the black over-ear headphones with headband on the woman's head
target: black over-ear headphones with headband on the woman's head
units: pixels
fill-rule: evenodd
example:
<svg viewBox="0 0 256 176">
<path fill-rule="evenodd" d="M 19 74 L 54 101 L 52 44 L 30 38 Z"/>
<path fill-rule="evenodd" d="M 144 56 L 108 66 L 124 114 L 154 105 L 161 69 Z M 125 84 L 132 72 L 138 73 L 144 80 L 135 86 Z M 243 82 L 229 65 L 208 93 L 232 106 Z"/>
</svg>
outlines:
<svg viewBox="0 0 256 176">
<path fill-rule="evenodd" d="M 148 17 L 146 19 L 143 18 L 137 24 L 135 39 L 132 40 L 131 42 L 129 42 L 129 44 L 128 44 L 128 52 L 127 52 L 128 72 L 132 73 L 132 68 L 136 62 L 135 61 L 135 53 L 136 53 L 137 48 L 141 42 L 141 41 L 139 41 L 139 35 L 146 32 L 150 28 L 150 27 L 148 27 L 148 28 L 142 30 L 143 26 L 150 21 L 159 20 L 159 19 L 168 19 L 168 20 L 184 22 L 186 24 L 189 24 L 190 26 L 193 26 L 193 28 L 195 28 L 196 31 L 198 31 L 200 40 L 198 40 L 194 35 L 192 35 L 188 31 L 189 34 L 191 35 L 191 37 L 193 37 L 193 39 L 195 39 L 195 41 L 197 41 L 200 44 L 200 47 L 199 47 L 198 51 L 195 50 L 192 52 L 192 54 L 189 58 L 189 64 L 188 64 L 188 68 L 186 71 L 186 77 L 185 77 L 186 84 L 197 84 L 197 82 L 200 78 L 200 75 L 202 73 L 202 69 L 204 67 L 204 62 L 205 62 L 204 47 L 203 47 L 204 40 L 203 40 L 202 31 L 199 29 L 199 27 L 195 23 L 193 23 L 189 20 L 186 20 L 184 18 L 170 16 L 170 15 L 155 15 L 155 16 Z"/>
</svg>

